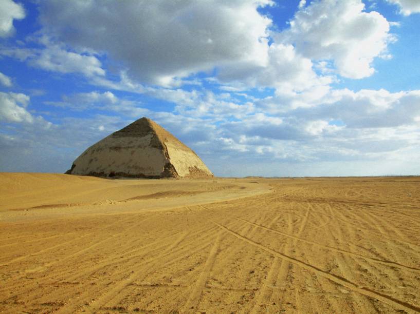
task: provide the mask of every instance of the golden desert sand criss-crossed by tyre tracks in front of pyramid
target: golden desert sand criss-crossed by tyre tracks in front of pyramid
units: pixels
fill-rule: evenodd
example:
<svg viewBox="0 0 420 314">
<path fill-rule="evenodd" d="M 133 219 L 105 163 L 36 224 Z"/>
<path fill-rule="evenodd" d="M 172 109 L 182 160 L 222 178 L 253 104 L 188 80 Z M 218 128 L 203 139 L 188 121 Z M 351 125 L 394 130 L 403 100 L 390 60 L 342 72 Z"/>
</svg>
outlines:
<svg viewBox="0 0 420 314">
<path fill-rule="evenodd" d="M 420 311 L 420 178 L 0 173 L 0 311 Z"/>
</svg>

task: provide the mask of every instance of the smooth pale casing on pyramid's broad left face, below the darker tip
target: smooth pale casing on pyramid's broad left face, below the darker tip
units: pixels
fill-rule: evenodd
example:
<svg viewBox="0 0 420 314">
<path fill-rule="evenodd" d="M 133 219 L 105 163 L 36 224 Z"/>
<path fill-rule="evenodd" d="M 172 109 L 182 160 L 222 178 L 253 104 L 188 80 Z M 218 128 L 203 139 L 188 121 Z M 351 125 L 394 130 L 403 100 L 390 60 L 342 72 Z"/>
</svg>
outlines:
<svg viewBox="0 0 420 314">
<path fill-rule="evenodd" d="M 161 178 L 168 172 L 168 158 L 162 148 L 151 146 L 155 135 L 107 136 L 86 149 L 74 162 L 71 174 Z M 172 171 L 173 172 L 173 171 Z"/>
</svg>

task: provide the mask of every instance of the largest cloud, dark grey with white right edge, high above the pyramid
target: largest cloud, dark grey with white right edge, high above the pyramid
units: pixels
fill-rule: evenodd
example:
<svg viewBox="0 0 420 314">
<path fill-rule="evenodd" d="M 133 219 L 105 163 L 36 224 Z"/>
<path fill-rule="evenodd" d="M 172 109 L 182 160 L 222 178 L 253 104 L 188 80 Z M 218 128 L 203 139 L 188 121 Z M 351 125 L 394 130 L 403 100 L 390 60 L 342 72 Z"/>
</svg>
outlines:
<svg viewBox="0 0 420 314">
<path fill-rule="evenodd" d="M 44 31 L 74 47 L 105 51 L 143 82 L 171 86 L 177 77 L 230 62 L 264 66 L 269 0 L 40 2 Z M 71 30 L 71 31 L 69 31 Z"/>
</svg>

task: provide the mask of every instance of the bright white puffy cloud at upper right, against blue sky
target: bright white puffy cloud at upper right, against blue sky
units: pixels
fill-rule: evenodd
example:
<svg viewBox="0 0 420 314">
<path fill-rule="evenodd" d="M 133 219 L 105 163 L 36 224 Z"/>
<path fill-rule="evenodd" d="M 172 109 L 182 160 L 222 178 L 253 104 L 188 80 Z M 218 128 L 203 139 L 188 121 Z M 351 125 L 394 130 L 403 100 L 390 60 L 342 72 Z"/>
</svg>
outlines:
<svg viewBox="0 0 420 314">
<path fill-rule="evenodd" d="M 293 43 L 311 60 L 333 60 L 344 77 L 363 78 L 374 73 L 373 59 L 385 55 L 393 40 L 389 30 L 387 19 L 364 12 L 361 0 L 316 0 L 300 9 L 277 39 Z"/>
</svg>

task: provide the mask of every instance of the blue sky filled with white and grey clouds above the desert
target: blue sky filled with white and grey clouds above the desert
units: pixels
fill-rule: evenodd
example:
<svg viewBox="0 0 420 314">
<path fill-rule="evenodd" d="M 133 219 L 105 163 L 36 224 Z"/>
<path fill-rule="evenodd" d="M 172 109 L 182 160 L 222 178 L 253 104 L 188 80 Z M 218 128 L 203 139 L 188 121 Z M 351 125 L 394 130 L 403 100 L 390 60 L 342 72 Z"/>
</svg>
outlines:
<svg viewBox="0 0 420 314">
<path fill-rule="evenodd" d="M 420 2 L 0 1 L 0 171 L 148 116 L 220 176 L 420 174 Z"/>
</svg>

